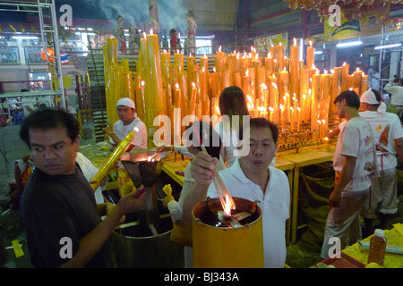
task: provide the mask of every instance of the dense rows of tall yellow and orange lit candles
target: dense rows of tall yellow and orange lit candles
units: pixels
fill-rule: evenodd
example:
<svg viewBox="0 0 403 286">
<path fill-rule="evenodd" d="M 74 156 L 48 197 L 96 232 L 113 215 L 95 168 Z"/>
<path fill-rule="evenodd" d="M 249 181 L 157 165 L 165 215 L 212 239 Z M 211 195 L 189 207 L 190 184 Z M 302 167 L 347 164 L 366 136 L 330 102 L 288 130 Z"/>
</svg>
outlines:
<svg viewBox="0 0 403 286">
<path fill-rule="evenodd" d="M 285 46 L 270 46 L 263 58 L 252 47 L 251 52 L 227 54 L 219 51 L 214 68 L 209 70 L 209 56 L 196 63 L 193 55 L 175 54 L 174 63 L 167 52 L 160 53 L 157 35 L 141 38 L 136 71 L 129 71 L 127 60 L 117 63 L 116 38 L 108 38 L 104 45 L 107 116 L 115 122 L 116 101 L 131 97 L 138 116 L 150 133 L 156 115 L 171 119 L 172 130 L 186 115 L 219 114 L 219 94 L 228 86 L 244 90 L 250 114 L 265 117 L 279 126 L 280 138 L 290 135 L 296 140 L 325 139 L 330 123 L 337 123 L 333 100 L 343 90 L 354 89 L 361 94 L 368 88 L 363 71 L 349 74 L 349 64 L 335 67 L 321 74 L 314 65 L 314 47 L 306 48 L 306 60 L 300 58 L 300 46 L 290 46 L 289 58 Z M 184 61 L 186 69 L 184 69 Z M 174 116 L 180 108 L 180 116 Z M 300 135 L 295 137 L 295 135 Z M 304 136 L 302 136 L 304 135 Z"/>
</svg>

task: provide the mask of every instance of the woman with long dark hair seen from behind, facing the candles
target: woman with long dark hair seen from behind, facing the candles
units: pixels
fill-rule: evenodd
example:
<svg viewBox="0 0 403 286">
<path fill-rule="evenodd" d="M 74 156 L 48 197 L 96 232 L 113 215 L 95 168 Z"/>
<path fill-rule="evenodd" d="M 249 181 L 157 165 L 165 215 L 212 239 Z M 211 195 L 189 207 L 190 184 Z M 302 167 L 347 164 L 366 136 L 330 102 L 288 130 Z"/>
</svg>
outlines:
<svg viewBox="0 0 403 286">
<path fill-rule="evenodd" d="M 222 140 L 221 156 L 227 160 L 227 167 L 236 161 L 238 131 L 244 123 L 244 116 L 250 116 L 244 91 L 236 86 L 224 88 L 219 96 L 221 122 L 215 127 Z"/>
</svg>

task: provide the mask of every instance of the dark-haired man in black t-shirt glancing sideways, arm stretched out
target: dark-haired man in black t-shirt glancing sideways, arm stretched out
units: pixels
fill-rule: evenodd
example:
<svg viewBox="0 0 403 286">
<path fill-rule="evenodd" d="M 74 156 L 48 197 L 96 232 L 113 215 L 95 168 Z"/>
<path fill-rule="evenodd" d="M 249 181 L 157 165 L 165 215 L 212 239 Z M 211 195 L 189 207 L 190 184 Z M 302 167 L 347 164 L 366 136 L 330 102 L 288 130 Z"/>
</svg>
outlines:
<svg viewBox="0 0 403 286">
<path fill-rule="evenodd" d="M 110 267 L 109 234 L 124 214 L 138 211 L 135 192 L 116 205 L 96 205 L 77 167 L 79 123 L 63 110 L 38 110 L 23 122 L 21 139 L 35 169 L 22 195 L 22 222 L 35 267 Z M 102 221 L 101 215 L 107 214 Z"/>
</svg>

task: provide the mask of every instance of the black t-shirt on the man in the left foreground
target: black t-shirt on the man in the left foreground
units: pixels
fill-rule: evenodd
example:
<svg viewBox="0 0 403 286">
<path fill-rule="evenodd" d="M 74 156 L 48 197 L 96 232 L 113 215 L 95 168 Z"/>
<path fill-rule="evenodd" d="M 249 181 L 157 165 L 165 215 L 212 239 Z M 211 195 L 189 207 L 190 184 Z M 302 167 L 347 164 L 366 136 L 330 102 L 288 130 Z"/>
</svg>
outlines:
<svg viewBox="0 0 403 286">
<path fill-rule="evenodd" d="M 73 245 L 74 256 L 81 238 L 101 222 L 94 192 L 77 167 L 72 175 L 57 176 L 36 168 L 23 192 L 21 214 L 32 265 L 40 268 L 66 263 L 67 246 Z M 110 267 L 110 249 L 107 240 L 85 267 Z"/>
</svg>

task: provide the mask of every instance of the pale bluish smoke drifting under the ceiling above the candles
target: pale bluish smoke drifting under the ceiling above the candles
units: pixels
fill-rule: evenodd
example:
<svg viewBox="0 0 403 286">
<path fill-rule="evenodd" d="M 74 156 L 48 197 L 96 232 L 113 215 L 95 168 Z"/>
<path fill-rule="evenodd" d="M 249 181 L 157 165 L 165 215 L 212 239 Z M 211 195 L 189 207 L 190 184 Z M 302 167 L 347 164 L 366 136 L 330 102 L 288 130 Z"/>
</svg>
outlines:
<svg viewBox="0 0 403 286">
<path fill-rule="evenodd" d="M 86 0 L 87 2 L 88 0 Z M 108 21 L 116 21 L 118 15 L 124 20 L 124 28 L 135 22 L 137 29 L 150 31 L 149 1 L 147 0 L 90 0 L 94 9 L 104 13 Z M 187 32 L 186 13 L 184 0 L 158 0 L 159 5 L 159 29 L 164 29 L 169 35 L 169 30 L 175 28 L 183 33 Z"/>
</svg>

